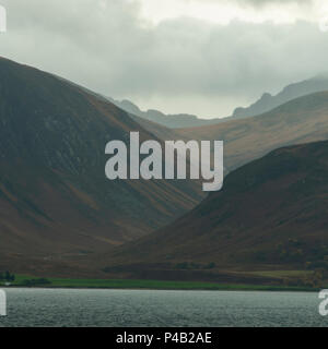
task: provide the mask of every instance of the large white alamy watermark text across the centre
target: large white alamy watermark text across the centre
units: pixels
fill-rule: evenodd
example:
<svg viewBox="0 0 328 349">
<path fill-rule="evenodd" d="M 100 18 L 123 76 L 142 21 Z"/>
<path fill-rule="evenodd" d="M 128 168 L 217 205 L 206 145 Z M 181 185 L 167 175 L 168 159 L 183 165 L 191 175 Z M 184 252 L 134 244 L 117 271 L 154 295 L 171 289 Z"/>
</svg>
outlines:
<svg viewBox="0 0 328 349">
<path fill-rule="evenodd" d="M 110 141 L 105 153 L 113 155 L 106 163 L 105 173 L 116 179 L 187 179 L 208 181 L 202 190 L 219 191 L 223 185 L 223 142 L 214 141 L 166 141 L 163 155 L 162 144 L 145 141 L 140 144 L 139 132 L 130 132 L 129 152 L 122 141 Z M 130 156 L 128 167 L 128 154 Z M 211 161 L 212 159 L 212 161 Z M 213 166 L 211 166 L 213 163 Z M 164 168 L 163 168 L 164 166 Z M 128 173 L 129 168 L 129 173 Z M 209 182 L 211 181 L 211 182 Z"/>
</svg>

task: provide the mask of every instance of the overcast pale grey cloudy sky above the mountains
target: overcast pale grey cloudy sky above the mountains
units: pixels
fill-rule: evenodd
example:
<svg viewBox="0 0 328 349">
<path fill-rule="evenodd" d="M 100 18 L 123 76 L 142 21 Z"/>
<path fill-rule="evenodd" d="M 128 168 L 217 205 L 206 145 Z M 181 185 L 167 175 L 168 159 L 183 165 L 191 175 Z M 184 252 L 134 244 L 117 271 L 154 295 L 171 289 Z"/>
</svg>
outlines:
<svg viewBox="0 0 328 349">
<path fill-rule="evenodd" d="M 1 56 L 142 109 L 225 117 L 328 70 L 327 0 L 0 3 Z"/>
</svg>

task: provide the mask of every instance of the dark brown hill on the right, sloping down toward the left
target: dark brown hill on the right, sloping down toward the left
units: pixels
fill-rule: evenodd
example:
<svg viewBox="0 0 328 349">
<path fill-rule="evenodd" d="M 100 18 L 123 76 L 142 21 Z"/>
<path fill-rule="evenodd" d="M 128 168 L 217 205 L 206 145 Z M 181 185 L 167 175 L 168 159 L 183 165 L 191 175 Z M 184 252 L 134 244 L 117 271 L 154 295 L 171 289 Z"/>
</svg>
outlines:
<svg viewBox="0 0 328 349">
<path fill-rule="evenodd" d="M 327 268 L 327 227 L 328 142 L 284 147 L 230 173 L 173 225 L 119 248 L 107 272 L 213 279 L 233 270 L 241 281 L 255 270 Z"/>
</svg>

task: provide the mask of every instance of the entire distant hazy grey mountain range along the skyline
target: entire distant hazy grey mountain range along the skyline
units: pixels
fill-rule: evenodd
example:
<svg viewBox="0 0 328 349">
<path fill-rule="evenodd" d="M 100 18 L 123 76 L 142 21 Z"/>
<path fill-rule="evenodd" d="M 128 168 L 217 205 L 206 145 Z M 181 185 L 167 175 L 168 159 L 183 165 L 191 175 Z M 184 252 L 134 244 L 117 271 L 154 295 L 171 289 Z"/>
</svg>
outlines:
<svg viewBox="0 0 328 349">
<path fill-rule="evenodd" d="M 313 79 L 297 82 L 284 87 L 276 96 L 265 93 L 260 99 L 246 108 L 236 108 L 231 117 L 201 119 L 191 115 L 165 115 L 159 110 L 141 111 L 140 108 L 130 100 L 115 100 L 110 97 L 108 99 L 119 108 L 127 112 L 140 117 L 142 119 L 156 122 L 169 129 L 196 128 L 202 125 L 212 125 L 226 122 L 233 119 L 245 119 L 268 112 L 292 99 L 309 95 L 316 92 L 328 91 L 328 73 L 319 74 Z"/>
</svg>

